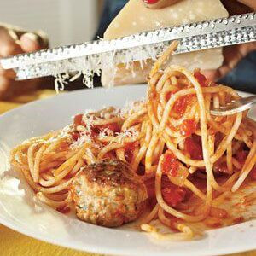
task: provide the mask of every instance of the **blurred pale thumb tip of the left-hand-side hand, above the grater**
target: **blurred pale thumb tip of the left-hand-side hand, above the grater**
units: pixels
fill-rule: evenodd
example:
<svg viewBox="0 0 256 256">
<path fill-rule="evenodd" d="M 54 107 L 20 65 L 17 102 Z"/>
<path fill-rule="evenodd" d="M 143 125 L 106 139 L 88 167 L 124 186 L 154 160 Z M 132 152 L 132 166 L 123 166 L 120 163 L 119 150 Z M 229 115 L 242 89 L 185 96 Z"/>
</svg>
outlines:
<svg viewBox="0 0 256 256">
<path fill-rule="evenodd" d="M 24 52 L 33 52 L 43 49 L 44 45 L 37 34 L 27 32 L 20 37 L 20 47 Z"/>
</svg>

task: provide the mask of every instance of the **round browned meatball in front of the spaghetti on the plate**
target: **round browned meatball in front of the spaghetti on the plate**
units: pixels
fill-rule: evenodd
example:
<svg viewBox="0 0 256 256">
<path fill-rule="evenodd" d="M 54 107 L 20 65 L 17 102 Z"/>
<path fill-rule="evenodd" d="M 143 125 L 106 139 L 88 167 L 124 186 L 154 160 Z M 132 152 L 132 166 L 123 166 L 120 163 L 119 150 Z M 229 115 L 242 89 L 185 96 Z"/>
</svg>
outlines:
<svg viewBox="0 0 256 256">
<path fill-rule="evenodd" d="M 71 191 L 78 218 L 106 227 L 138 218 L 148 197 L 140 177 L 120 160 L 82 167 L 73 178 Z"/>
</svg>

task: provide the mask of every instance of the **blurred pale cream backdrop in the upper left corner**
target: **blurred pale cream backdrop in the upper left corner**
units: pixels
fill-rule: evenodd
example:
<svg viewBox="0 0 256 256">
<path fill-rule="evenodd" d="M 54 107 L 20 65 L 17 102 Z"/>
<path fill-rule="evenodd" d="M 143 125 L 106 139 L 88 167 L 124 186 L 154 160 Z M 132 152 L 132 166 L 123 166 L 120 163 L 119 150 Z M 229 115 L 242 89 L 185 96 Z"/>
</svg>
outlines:
<svg viewBox="0 0 256 256">
<path fill-rule="evenodd" d="M 50 47 L 77 44 L 94 37 L 102 3 L 102 0 L 1 0 L 0 21 L 28 31 L 44 30 L 49 35 Z"/>
</svg>

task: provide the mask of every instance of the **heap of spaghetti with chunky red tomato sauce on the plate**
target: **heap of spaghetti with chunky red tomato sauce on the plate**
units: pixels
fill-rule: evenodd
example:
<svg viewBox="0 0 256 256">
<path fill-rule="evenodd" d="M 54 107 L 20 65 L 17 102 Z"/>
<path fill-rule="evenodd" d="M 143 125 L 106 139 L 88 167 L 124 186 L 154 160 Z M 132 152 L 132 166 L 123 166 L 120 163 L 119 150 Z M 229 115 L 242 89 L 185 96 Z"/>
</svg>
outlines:
<svg viewBox="0 0 256 256">
<path fill-rule="evenodd" d="M 76 115 L 72 125 L 12 150 L 12 165 L 39 200 L 67 211 L 73 201 L 69 186 L 80 168 L 119 159 L 142 177 L 148 201 L 154 202 L 141 228 L 163 237 L 150 224 L 158 218 L 182 233 L 166 237 L 185 240 L 194 236 L 186 223 L 214 215 L 224 195 L 236 193 L 247 178 L 256 179 L 253 120 L 246 113 L 210 113 L 212 104 L 219 108 L 237 99 L 236 91 L 209 82 L 199 70 L 160 70 L 176 47 L 174 42 L 155 62 L 146 102 Z M 195 198 L 199 207 L 193 207 Z"/>
</svg>

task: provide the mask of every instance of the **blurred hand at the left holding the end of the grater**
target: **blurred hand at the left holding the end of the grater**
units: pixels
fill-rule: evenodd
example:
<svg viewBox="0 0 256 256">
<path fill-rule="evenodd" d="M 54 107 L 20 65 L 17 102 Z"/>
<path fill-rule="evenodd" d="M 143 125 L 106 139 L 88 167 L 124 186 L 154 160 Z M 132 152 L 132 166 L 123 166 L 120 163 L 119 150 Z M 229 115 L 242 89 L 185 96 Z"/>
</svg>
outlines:
<svg viewBox="0 0 256 256">
<path fill-rule="evenodd" d="M 15 31 L 0 26 L 0 58 L 20 53 L 28 53 L 47 46 L 47 40 L 40 38 L 36 33 Z M 37 88 L 40 79 L 15 81 L 15 72 L 5 70 L 0 65 L 0 99 L 8 99 L 26 91 Z"/>
</svg>

